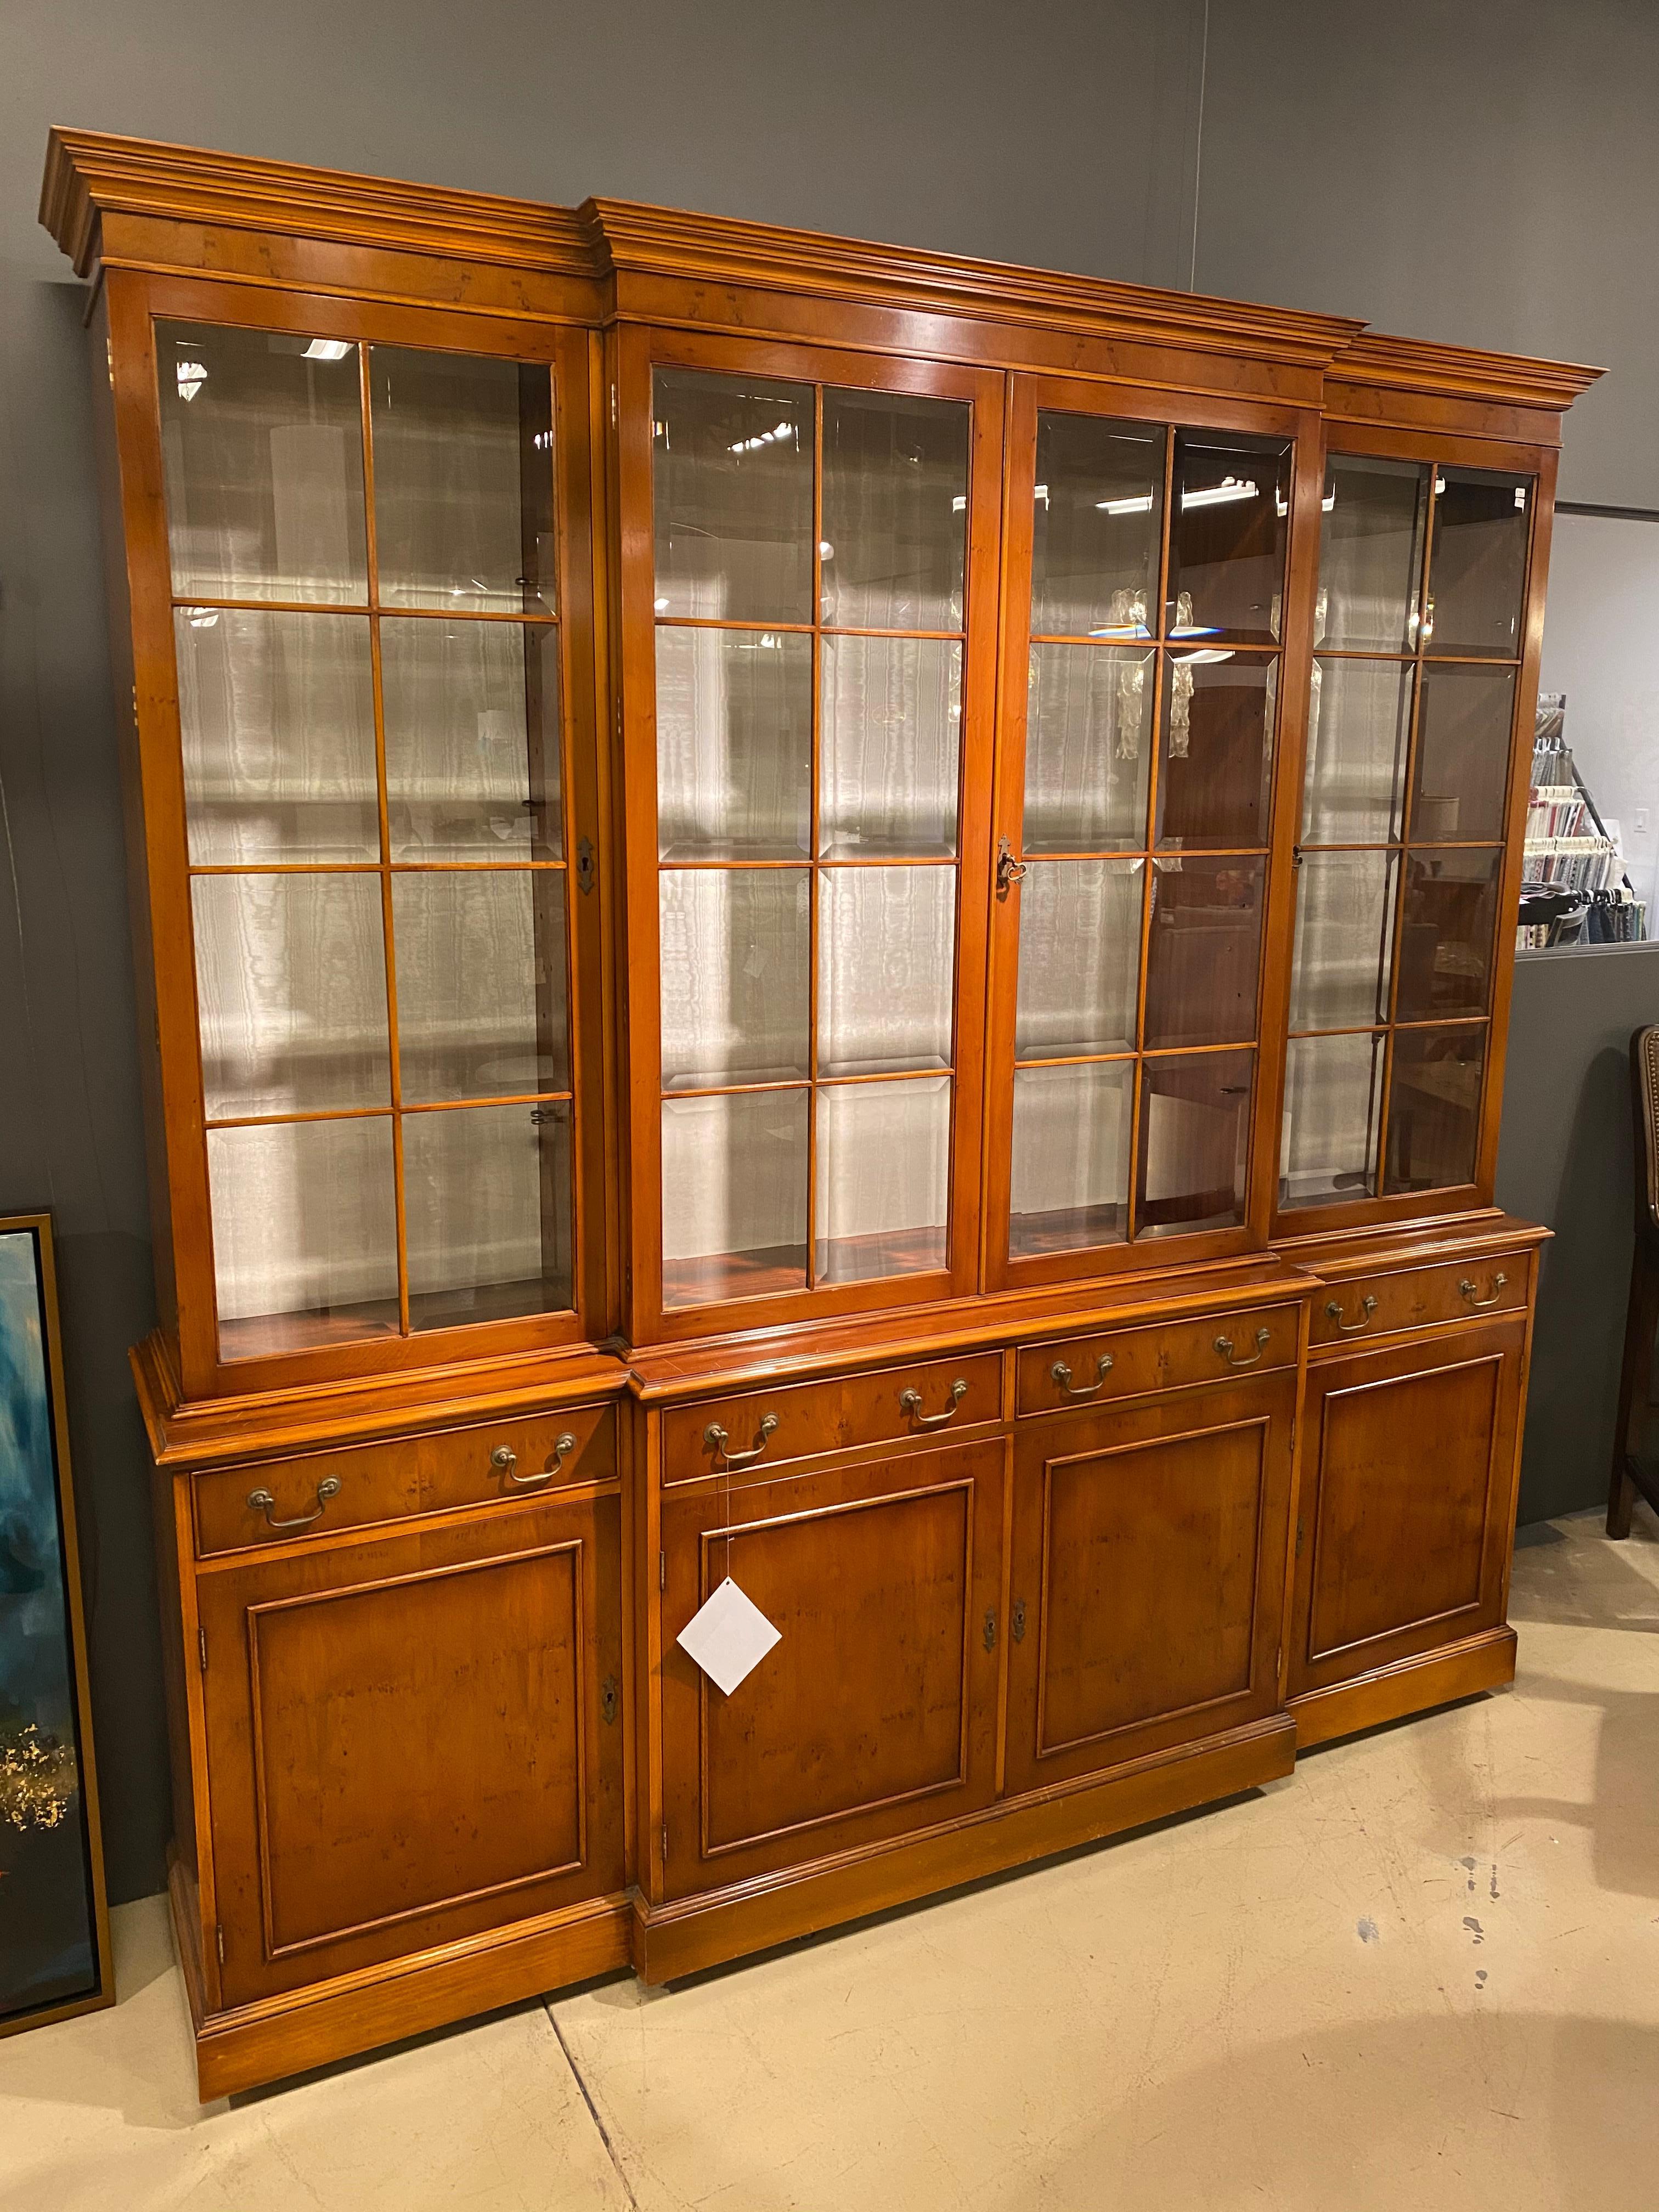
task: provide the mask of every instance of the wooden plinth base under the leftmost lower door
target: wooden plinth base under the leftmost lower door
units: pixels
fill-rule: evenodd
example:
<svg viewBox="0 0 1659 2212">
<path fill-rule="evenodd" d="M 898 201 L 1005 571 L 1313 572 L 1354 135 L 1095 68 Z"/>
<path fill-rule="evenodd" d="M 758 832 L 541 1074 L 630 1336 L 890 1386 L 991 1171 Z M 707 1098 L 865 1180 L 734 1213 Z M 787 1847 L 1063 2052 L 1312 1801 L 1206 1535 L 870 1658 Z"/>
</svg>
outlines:
<svg viewBox="0 0 1659 2212">
<path fill-rule="evenodd" d="M 522 1920 L 471 1942 L 343 1975 L 338 1982 L 204 2015 L 177 1869 L 168 1896 L 173 1940 L 190 1997 L 197 2095 L 204 2104 L 628 1964 L 628 1900 L 597 1898 L 546 1920 Z"/>
</svg>

